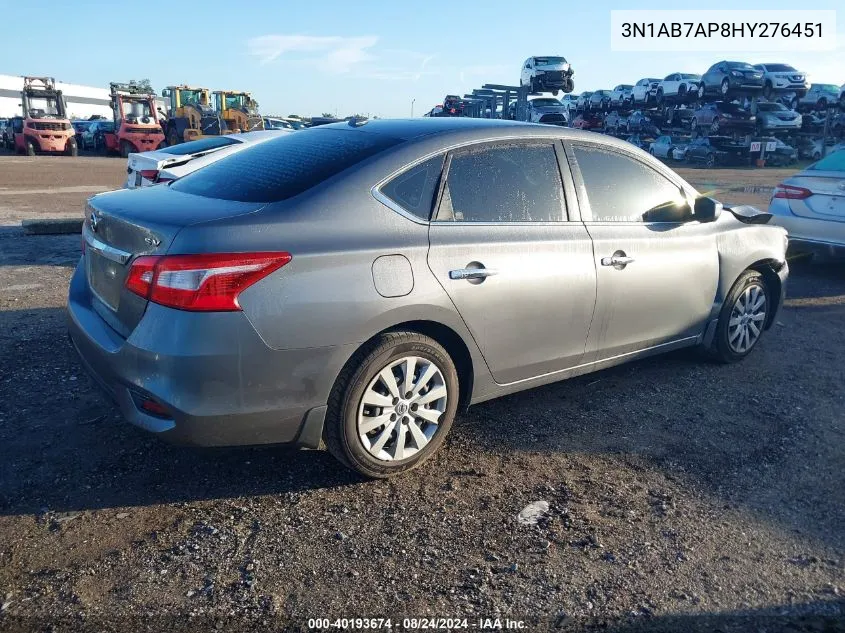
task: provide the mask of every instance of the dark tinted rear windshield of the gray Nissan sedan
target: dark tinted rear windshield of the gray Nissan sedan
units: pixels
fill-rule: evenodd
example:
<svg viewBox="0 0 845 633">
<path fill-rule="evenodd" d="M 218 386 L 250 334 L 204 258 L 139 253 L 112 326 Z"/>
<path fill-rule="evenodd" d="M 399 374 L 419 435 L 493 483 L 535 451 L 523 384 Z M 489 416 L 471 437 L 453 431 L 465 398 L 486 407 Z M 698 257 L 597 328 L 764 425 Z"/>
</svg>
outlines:
<svg viewBox="0 0 845 633">
<path fill-rule="evenodd" d="M 303 130 L 227 156 L 171 188 L 221 200 L 278 202 L 401 142 L 352 129 Z"/>
</svg>

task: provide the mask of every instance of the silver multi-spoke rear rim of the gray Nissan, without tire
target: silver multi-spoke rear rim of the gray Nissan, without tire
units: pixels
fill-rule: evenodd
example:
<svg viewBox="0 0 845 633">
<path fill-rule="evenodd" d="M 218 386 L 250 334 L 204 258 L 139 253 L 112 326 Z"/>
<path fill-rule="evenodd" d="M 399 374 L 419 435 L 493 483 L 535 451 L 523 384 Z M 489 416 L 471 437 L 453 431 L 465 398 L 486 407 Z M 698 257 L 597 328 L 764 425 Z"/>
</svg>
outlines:
<svg viewBox="0 0 845 633">
<path fill-rule="evenodd" d="M 422 450 L 439 429 L 448 390 L 432 361 L 405 356 L 367 385 L 358 406 L 358 437 L 376 459 L 398 461 Z"/>
</svg>

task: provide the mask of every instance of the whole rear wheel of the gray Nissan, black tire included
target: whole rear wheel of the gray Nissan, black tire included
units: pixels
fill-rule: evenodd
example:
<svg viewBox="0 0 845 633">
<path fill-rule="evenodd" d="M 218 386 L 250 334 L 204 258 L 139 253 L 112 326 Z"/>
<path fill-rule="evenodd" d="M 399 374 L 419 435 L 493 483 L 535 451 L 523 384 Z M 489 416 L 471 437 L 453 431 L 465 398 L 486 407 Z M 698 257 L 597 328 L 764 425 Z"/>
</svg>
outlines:
<svg viewBox="0 0 845 633">
<path fill-rule="evenodd" d="M 410 382 L 405 380 L 409 367 L 415 378 Z M 410 393 L 419 389 L 419 394 L 408 398 L 407 392 L 401 393 L 407 389 Z M 425 401 L 434 393 L 443 395 Z M 398 475 L 419 466 L 443 443 L 459 393 L 455 364 L 437 341 L 417 332 L 381 334 L 361 348 L 338 376 L 329 396 L 323 441 L 338 461 L 365 477 Z M 368 395 L 372 404 L 366 403 Z M 398 397 L 403 395 L 404 399 Z M 436 407 L 420 406 L 431 404 Z M 416 413 L 421 409 L 425 416 Z M 409 449 L 413 452 L 404 457 Z"/>
</svg>

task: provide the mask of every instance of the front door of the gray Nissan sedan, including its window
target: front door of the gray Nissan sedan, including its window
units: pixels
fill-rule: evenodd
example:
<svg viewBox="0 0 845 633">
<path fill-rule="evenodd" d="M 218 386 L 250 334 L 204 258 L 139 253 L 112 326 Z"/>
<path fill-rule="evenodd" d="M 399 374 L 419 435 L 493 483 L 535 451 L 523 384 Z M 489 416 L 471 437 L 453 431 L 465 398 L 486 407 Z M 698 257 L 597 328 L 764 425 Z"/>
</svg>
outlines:
<svg viewBox="0 0 845 633">
<path fill-rule="evenodd" d="M 621 148 L 582 141 L 566 148 L 595 251 L 585 362 L 697 337 L 716 297 L 717 228 L 692 219 L 687 193 L 668 170 Z"/>
</svg>

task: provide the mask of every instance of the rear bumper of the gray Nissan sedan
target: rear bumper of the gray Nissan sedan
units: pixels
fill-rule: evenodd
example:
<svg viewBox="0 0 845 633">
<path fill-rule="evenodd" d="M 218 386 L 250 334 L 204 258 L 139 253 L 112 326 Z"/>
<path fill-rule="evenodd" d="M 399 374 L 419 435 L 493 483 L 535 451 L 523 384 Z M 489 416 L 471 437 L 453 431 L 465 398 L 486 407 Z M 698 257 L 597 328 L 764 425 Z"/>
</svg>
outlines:
<svg viewBox="0 0 845 633">
<path fill-rule="evenodd" d="M 174 443 L 292 443 L 317 448 L 345 346 L 272 350 L 242 312 L 149 304 L 122 338 L 97 314 L 83 266 L 70 283 L 70 339 L 85 369 L 132 424 Z M 167 414 L 141 408 L 151 399 Z"/>
</svg>

